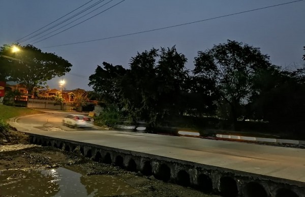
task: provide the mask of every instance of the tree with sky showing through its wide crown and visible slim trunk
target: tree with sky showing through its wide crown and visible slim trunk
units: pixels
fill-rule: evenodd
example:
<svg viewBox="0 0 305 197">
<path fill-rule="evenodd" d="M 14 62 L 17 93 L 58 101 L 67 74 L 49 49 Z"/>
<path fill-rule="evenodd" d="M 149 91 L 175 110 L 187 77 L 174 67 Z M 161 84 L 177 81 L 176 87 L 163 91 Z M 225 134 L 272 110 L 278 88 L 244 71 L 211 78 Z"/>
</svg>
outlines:
<svg viewBox="0 0 305 197">
<path fill-rule="evenodd" d="M 195 57 L 196 77 L 214 84 L 217 94 L 230 106 L 230 119 L 236 128 L 240 104 L 247 101 L 257 72 L 270 67 L 269 57 L 259 48 L 230 41 L 199 51 Z"/>
</svg>

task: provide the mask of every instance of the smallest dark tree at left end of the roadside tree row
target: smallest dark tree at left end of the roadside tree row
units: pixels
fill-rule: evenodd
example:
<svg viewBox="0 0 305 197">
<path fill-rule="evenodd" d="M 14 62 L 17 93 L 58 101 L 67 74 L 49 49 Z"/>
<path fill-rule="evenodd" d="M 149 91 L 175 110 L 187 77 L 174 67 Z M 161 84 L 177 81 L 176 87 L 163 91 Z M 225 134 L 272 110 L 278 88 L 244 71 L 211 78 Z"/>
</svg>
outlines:
<svg viewBox="0 0 305 197">
<path fill-rule="evenodd" d="M 106 104 L 117 104 L 119 101 L 118 83 L 120 78 L 126 74 L 126 69 L 121 65 L 113 66 L 110 63 L 103 62 L 104 68 L 98 65 L 95 74 L 89 77 L 89 86 L 93 86 L 99 100 Z"/>
</svg>

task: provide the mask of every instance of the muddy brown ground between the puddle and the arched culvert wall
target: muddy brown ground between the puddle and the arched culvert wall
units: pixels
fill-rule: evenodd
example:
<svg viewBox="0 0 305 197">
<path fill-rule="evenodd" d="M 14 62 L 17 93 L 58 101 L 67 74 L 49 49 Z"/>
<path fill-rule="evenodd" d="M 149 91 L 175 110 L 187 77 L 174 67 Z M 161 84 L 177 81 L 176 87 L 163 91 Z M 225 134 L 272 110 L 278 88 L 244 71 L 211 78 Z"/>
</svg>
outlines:
<svg viewBox="0 0 305 197">
<path fill-rule="evenodd" d="M 14 130 L 6 134 L 6 139 L 0 139 L 0 171 L 12 169 L 32 171 L 65 166 L 77 166 L 87 175 L 111 175 L 120 178 L 140 191 L 140 194 L 132 196 L 215 196 L 163 182 L 153 176 L 146 177 L 141 173 L 128 172 L 113 165 L 95 162 L 77 151 L 67 152 L 54 147 L 32 145 L 29 144 L 26 135 Z M 20 174 L 18 177 L 24 178 Z"/>
</svg>

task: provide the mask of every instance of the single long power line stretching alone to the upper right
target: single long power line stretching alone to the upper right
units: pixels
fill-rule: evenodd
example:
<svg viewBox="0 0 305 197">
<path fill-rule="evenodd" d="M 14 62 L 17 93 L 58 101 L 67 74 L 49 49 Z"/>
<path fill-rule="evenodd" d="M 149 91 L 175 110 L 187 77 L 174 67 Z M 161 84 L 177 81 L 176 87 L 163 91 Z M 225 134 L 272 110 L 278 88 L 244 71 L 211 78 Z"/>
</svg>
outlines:
<svg viewBox="0 0 305 197">
<path fill-rule="evenodd" d="M 224 17 L 238 15 L 238 14 L 243 14 L 243 13 L 248 13 L 248 12 L 254 12 L 254 11 L 263 10 L 263 9 L 267 9 L 267 8 L 273 8 L 273 7 L 283 6 L 283 5 L 287 5 L 287 4 L 293 4 L 293 3 L 302 2 L 302 1 L 304 1 L 304 0 L 297 0 L 297 1 L 287 2 L 287 3 L 283 3 L 283 4 L 266 6 L 266 7 L 262 7 L 262 8 L 257 8 L 257 9 L 242 11 L 242 12 L 236 12 L 236 13 L 232 13 L 232 14 L 226 14 L 226 15 L 222 15 L 222 16 L 217 16 L 217 17 L 207 18 L 207 19 L 203 19 L 203 20 L 197 20 L 197 21 L 193 21 L 193 22 L 177 24 L 177 25 L 171 25 L 171 26 L 160 27 L 160 28 L 155 28 L 155 29 L 143 30 L 143 31 L 133 32 L 133 33 L 130 33 L 130 34 L 112 36 L 112 37 L 95 39 L 95 40 L 89 40 L 89 41 L 67 43 L 67 44 L 62 44 L 62 45 L 54 45 L 54 46 L 42 47 L 42 49 L 43 48 L 52 48 L 52 47 L 67 46 L 67 45 L 75 45 L 75 44 L 81 44 L 81 43 L 95 42 L 95 41 L 108 40 L 108 39 L 113 39 L 113 38 L 126 37 L 126 36 L 132 36 L 132 35 L 137 35 L 137 34 L 143 34 L 143 33 L 146 33 L 146 32 L 158 31 L 158 30 L 163 30 L 163 29 L 168 29 L 168 28 L 173 28 L 173 27 L 178 27 L 178 26 L 184 26 L 184 25 L 189 25 L 189 24 L 194 24 L 194 23 L 199 23 L 199 22 L 204 22 L 204 21 L 214 20 L 214 19 L 219 19 L 219 18 L 224 18 Z"/>
</svg>

